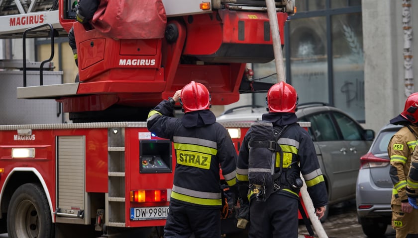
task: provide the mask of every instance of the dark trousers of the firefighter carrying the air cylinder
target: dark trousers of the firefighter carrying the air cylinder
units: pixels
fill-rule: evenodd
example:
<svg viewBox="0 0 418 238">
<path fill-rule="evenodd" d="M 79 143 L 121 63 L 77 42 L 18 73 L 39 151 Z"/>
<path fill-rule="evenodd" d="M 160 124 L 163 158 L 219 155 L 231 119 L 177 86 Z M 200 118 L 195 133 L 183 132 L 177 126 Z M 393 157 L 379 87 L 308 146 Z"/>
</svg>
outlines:
<svg viewBox="0 0 418 238">
<path fill-rule="evenodd" d="M 250 203 L 249 238 L 297 238 L 298 200 L 273 193 L 265 202 Z"/>
</svg>

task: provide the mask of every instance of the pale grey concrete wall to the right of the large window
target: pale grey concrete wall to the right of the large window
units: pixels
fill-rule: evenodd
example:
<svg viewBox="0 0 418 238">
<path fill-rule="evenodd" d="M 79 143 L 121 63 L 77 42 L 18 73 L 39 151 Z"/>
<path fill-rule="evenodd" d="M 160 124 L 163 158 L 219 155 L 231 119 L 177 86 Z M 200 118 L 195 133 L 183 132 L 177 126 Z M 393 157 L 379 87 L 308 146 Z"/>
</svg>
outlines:
<svg viewBox="0 0 418 238">
<path fill-rule="evenodd" d="M 412 26 L 413 55 L 418 55 L 418 15 Z M 376 132 L 404 109 L 404 33 L 402 26 L 402 0 L 363 0 L 363 50 L 365 81 L 365 128 Z M 414 84 L 418 90 L 418 60 L 414 61 Z"/>
</svg>

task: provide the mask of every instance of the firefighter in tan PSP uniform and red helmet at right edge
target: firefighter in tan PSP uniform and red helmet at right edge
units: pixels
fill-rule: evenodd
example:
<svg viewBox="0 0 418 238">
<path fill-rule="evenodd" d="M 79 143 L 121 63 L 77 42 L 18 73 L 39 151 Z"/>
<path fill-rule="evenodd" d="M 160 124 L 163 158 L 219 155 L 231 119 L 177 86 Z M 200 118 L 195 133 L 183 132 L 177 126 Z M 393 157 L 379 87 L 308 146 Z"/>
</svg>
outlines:
<svg viewBox="0 0 418 238">
<path fill-rule="evenodd" d="M 418 139 L 418 93 L 411 94 L 405 102 L 404 111 L 390 120 L 391 124 L 403 125 L 388 145 L 391 159 L 390 176 L 392 189 L 392 227 L 396 238 L 406 238 L 408 234 L 418 234 L 418 210 L 408 202 L 406 192 L 407 177 L 411 167 L 411 157 Z"/>
</svg>

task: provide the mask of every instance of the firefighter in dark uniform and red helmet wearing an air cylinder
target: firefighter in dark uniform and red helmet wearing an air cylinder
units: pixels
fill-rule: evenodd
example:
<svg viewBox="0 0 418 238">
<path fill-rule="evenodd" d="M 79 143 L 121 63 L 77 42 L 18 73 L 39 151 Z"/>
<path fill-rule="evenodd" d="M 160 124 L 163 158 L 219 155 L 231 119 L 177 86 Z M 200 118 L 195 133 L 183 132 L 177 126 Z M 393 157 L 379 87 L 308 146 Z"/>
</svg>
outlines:
<svg viewBox="0 0 418 238">
<path fill-rule="evenodd" d="M 272 122 L 281 133 L 275 150 L 272 183 L 266 194 L 258 199 L 249 184 L 250 138 L 253 128 L 244 137 L 237 161 L 237 185 L 240 202 L 249 211 L 249 238 L 297 238 L 299 192 L 303 185 L 302 173 L 313 200 L 315 214 L 322 218 L 328 198 L 322 172 L 319 168 L 314 143 L 308 132 L 296 122 L 298 96 L 296 90 L 285 82 L 274 84 L 267 92 L 268 114 L 262 121 Z M 280 151 L 280 153 L 279 153 Z M 250 187 L 250 189 L 248 189 Z M 242 200 L 241 200 L 242 199 Z M 249 204 L 248 204 L 249 203 Z"/>
</svg>

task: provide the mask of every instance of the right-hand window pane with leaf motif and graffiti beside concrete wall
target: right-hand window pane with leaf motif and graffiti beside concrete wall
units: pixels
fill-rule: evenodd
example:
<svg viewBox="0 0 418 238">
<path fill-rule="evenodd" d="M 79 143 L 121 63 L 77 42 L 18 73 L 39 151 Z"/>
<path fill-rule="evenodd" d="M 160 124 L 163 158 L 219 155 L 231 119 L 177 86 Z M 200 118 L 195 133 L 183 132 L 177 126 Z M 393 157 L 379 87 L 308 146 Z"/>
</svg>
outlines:
<svg viewBox="0 0 418 238">
<path fill-rule="evenodd" d="M 364 120 L 364 60 L 361 14 L 331 17 L 334 106 Z"/>
</svg>

